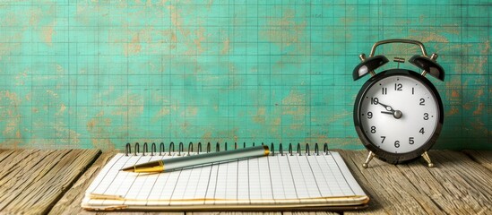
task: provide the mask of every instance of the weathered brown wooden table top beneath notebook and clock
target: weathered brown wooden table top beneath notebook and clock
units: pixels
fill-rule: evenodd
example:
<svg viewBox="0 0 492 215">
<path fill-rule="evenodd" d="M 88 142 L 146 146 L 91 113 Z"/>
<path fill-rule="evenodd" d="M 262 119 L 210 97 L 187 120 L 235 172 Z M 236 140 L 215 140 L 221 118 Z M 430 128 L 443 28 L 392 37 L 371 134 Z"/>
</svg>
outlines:
<svg viewBox="0 0 492 215">
<path fill-rule="evenodd" d="M 371 198 L 366 210 L 340 213 L 492 214 L 492 151 L 431 150 L 435 168 L 427 168 L 423 159 L 401 165 L 374 159 L 362 168 L 366 150 L 338 151 Z M 91 181 L 116 153 L 0 150 L 0 213 L 103 213 L 80 205 Z"/>
</svg>

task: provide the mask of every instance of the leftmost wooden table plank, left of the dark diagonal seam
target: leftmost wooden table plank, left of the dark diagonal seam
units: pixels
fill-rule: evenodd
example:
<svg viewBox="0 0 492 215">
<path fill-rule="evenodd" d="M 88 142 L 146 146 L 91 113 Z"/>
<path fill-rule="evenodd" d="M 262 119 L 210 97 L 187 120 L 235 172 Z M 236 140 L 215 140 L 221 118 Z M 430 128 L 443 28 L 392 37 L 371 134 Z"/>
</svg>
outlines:
<svg viewBox="0 0 492 215">
<path fill-rule="evenodd" d="M 99 150 L 3 150 L 0 212 L 43 214 L 81 176 Z"/>
</svg>

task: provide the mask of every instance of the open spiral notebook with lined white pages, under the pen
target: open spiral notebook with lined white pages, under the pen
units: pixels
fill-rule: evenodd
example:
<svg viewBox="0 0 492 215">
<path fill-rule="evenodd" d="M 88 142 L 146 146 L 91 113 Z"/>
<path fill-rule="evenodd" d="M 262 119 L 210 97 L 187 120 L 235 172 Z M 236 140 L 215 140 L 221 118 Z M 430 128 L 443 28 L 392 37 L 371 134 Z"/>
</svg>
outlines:
<svg viewBox="0 0 492 215">
<path fill-rule="evenodd" d="M 207 153 L 164 152 L 144 145 L 142 153 L 118 153 L 87 189 L 86 210 L 131 211 L 314 211 L 367 207 L 369 198 L 338 152 L 272 149 L 269 156 L 212 163 L 159 174 L 129 173 L 121 168 L 157 159 Z M 279 147 L 279 146 L 278 146 Z M 139 147 L 136 147 L 138 149 Z M 172 149 L 172 150 L 171 150 Z M 277 148 L 279 149 L 279 148 Z M 216 150 L 219 149 L 217 145 Z M 227 150 L 227 149 L 225 149 Z M 274 152 L 273 152 L 274 151 Z"/>
</svg>

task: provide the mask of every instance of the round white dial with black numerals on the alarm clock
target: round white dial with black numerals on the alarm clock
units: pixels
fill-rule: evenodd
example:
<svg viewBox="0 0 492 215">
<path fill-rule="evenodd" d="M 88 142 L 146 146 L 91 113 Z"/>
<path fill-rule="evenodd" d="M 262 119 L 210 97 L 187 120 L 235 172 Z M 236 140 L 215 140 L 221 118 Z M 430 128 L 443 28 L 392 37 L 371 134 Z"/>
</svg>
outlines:
<svg viewBox="0 0 492 215">
<path fill-rule="evenodd" d="M 432 138 L 439 121 L 432 91 L 405 75 L 375 82 L 361 98 L 358 115 L 367 139 L 391 153 L 419 149 Z"/>
</svg>

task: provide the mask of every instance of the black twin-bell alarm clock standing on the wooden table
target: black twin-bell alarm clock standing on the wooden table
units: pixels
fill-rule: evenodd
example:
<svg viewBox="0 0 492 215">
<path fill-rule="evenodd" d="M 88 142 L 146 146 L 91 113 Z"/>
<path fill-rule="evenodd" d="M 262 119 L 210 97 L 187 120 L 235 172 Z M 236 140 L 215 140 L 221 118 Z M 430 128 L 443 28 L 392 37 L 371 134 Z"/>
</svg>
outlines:
<svg viewBox="0 0 492 215">
<path fill-rule="evenodd" d="M 408 62 L 422 72 L 399 68 L 405 59 L 395 57 L 397 68 L 375 73 L 389 62 L 383 55 L 375 56 L 375 48 L 388 43 L 419 46 L 422 54 L 411 56 Z M 427 79 L 427 74 L 445 79 L 437 55 L 427 56 L 424 45 L 416 40 L 387 39 L 376 42 L 368 57 L 361 54 L 359 58 L 362 62 L 353 71 L 354 81 L 371 74 L 358 91 L 353 114 L 358 137 L 369 150 L 362 167 L 367 168 L 374 157 L 392 164 L 423 157 L 432 168 L 427 150 L 436 142 L 444 122 L 443 102 Z"/>
</svg>

